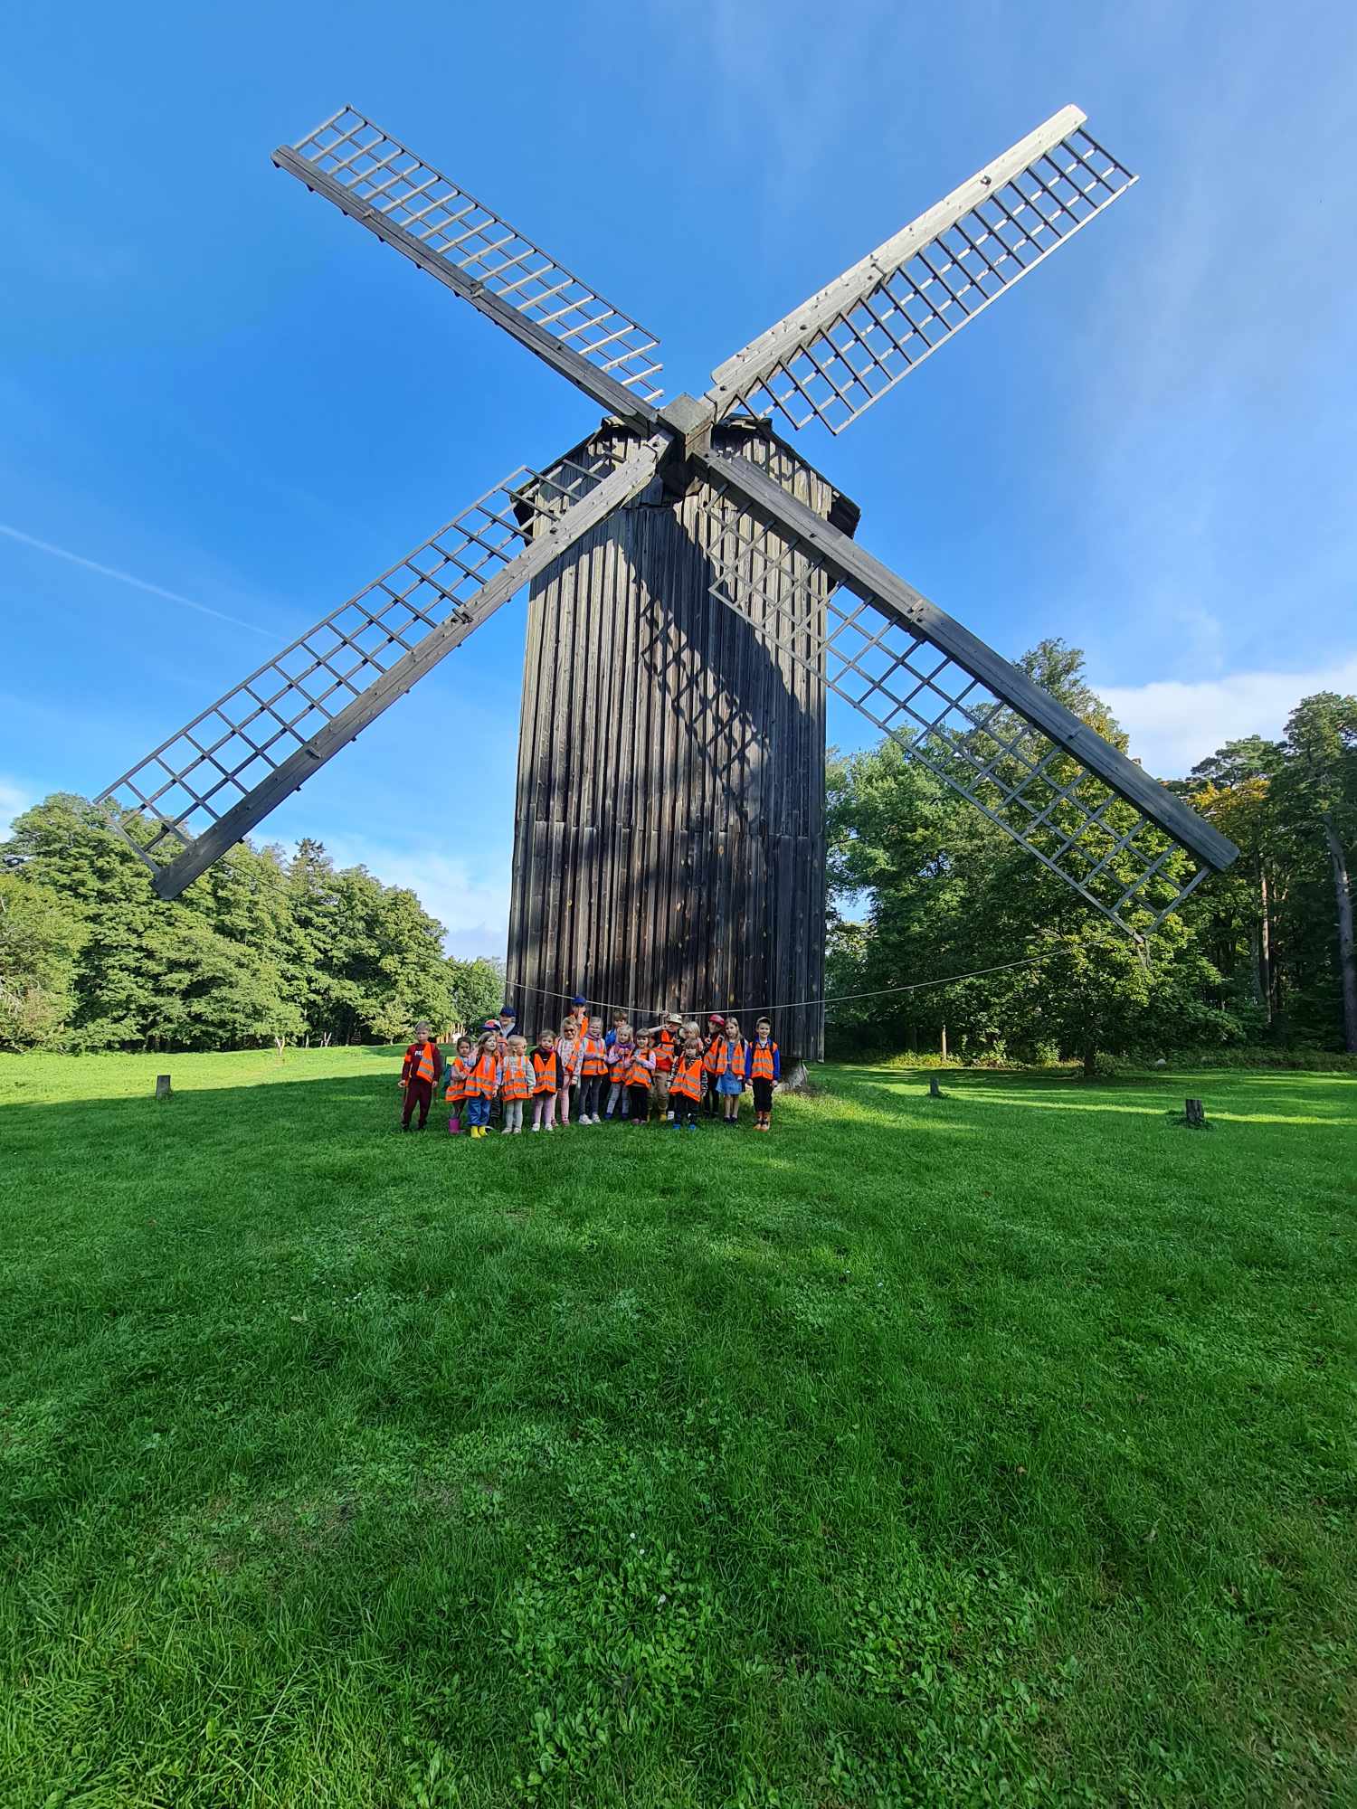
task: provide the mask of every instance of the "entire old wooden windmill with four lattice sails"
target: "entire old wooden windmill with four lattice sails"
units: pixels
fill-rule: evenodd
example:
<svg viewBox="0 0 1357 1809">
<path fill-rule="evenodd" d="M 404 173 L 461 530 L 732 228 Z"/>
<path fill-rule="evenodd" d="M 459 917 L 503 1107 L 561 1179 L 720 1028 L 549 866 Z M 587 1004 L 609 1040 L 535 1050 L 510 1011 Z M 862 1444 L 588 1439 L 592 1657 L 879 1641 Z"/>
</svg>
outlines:
<svg viewBox="0 0 1357 1809">
<path fill-rule="evenodd" d="M 1140 937 L 1236 848 L 854 539 L 838 434 L 1134 183 L 1066 107 L 660 405 L 657 338 L 344 109 L 273 163 L 604 411 L 103 792 L 176 897 L 528 586 L 508 979 L 823 1042 L 825 695 Z"/>
</svg>

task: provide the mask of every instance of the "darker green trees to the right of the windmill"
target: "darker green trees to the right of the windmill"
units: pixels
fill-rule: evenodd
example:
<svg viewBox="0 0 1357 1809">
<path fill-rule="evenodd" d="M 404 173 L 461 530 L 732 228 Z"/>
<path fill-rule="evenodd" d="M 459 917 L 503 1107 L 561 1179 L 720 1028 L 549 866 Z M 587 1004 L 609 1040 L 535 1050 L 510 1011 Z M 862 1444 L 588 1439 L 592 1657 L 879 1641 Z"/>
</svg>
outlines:
<svg viewBox="0 0 1357 1809">
<path fill-rule="evenodd" d="M 1020 664 L 1125 749 L 1078 649 L 1044 640 Z M 1080 1058 L 1089 1073 L 1118 1055 L 1357 1051 L 1357 698 L 1308 696 L 1281 740 L 1229 742 L 1169 783 L 1239 847 L 1239 859 L 1153 930 L 1142 957 L 910 762 L 906 743 L 830 756 L 827 991 L 919 988 L 830 1006 L 830 1047 L 937 1051 L 946 1042 L 968 1056 Z M 1120 809 L 1129 810 L 1113 803 L 1107 819 L 1116 823 Z M 1058 832 L 1055 812 L 1049 834 Z M 981 968 L 1006 971 L 919 986 Z"/>
</svg>

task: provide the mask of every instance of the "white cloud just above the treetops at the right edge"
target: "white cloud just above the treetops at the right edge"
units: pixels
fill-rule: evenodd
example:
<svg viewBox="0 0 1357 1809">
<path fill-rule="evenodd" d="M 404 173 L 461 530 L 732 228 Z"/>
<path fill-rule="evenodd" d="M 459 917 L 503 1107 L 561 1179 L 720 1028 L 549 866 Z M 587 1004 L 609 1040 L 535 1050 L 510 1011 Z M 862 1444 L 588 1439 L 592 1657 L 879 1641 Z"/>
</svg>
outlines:
<svg viewBox="0 0 1357 1809">
<path fill-rule="evenodd" d="M 1142 686 L 1095 684 L 1131 736 L 1131 753 L 1147 771 L 1181 778 L 1198 760 L 1245 734 L 1276 740 L 1303 696 L 1357 691 L 1357 655 L 1299 673 L 1232 673 L 1198 682 Z"/>
</svg>

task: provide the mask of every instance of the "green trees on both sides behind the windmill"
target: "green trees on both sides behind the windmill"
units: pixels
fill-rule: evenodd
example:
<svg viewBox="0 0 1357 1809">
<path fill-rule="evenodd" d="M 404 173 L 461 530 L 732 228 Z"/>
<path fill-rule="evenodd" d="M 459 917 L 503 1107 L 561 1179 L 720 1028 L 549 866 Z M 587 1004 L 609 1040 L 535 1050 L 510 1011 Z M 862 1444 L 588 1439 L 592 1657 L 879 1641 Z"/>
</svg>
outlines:
<svg viewBox="0 0 1357 1809">
<path fill-rule="evenodd" d="M 1044 640 L 1022 666 L 1125 747 L 1078 649 Z M 1019 745 L 1024 731 L 1001 733 Z M 1053 771 L 1068 783 L 1075 769 Z M 1281 740 L 1229 742 L 1169 783 L 1241 852 L 1142 952 L 908 743 L 830 756 L 825 990 L 916 988 L 832 1004 L 830 1047 L 946 1038 L 964 1056 L 1080 1058 L 1089 1073 L 1163 1051 L 1355 1053 L 1357 698 L 1308 696 Z M 1124 818 L 1109 800 L 1104 821 Z M 1046 834 L 1060 832 L 1055 809 Z M 413 892 L 337 868 L 317 841 L 289 856 L 242 843 L 166 904 L 128 847 L 139 834 L 136 818 L 58 794 L 0 845 L 0 1047 L 385 1042 L 414 1018 L 445 1028 L 499 1004 L 496 962 L 447 959 Z M 1169 852 L 1165 872 L 1185 877 L 1185 861 Z"/>
</svg>

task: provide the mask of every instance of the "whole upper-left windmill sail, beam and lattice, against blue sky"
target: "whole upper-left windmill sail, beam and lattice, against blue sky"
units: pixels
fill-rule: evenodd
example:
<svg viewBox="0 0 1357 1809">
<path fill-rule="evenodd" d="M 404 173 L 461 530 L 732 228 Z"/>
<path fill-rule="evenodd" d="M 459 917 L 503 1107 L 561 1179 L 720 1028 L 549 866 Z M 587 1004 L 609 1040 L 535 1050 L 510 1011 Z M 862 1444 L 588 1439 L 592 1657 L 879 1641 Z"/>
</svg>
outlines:
<svg viewBox="0 0 1357 1809">
<path fill-rule="evenodd" d="M 465 188 L 342 107 L 273 163 L 527 344 L 604 409 L 653 420 L 659 338 Z"/>
</svg>

